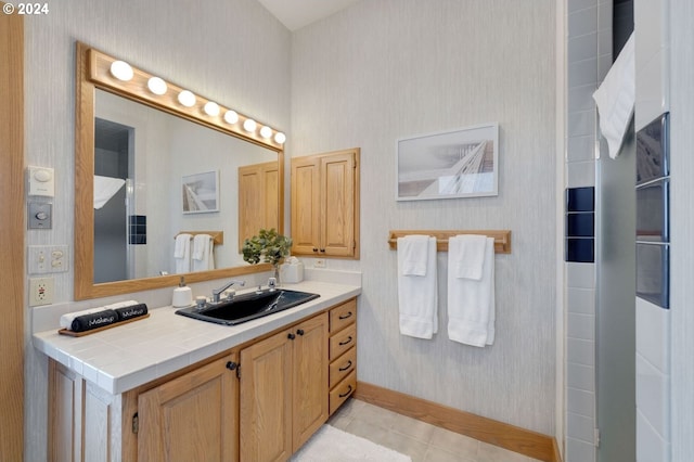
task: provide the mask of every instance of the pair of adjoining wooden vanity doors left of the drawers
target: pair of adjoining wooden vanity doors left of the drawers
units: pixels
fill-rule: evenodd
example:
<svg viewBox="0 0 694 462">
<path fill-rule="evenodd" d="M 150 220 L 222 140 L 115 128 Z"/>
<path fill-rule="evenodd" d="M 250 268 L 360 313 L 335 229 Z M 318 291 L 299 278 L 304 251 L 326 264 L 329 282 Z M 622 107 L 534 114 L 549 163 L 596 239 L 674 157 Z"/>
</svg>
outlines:
<svg viewBox="0 0 694 462">
<path fill-rule="evenodd" d="M 241 350 L 242 461 L 284 461 L 327 420 L 327 313 Z"/>
</svg>

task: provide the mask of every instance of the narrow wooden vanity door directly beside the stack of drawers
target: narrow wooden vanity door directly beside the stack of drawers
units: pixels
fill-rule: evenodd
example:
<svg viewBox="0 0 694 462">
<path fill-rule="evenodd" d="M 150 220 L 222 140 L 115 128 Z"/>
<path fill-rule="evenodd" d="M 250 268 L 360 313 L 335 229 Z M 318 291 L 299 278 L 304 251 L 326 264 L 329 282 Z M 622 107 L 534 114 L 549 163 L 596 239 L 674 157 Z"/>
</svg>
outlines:
<svg viewBox="0 0 694 462">
<path fill-rule="evenodd" d="M 294 343 L 294 450 L 327 420 L 327 313 L 292 330 Z"/>
</svg>

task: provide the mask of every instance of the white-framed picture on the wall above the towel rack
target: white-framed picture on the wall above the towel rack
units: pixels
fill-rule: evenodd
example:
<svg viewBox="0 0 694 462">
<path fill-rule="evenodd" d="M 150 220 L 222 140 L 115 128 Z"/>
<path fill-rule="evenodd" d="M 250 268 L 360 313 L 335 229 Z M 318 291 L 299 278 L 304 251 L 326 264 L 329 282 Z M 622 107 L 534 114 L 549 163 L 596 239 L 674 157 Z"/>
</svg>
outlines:
<svg viewBox="0 0 694 462">
<path fill-rule="evenodd" d="M 498 195 L 499 124 L 397 141 L 398 201 Z"/>
</svg>

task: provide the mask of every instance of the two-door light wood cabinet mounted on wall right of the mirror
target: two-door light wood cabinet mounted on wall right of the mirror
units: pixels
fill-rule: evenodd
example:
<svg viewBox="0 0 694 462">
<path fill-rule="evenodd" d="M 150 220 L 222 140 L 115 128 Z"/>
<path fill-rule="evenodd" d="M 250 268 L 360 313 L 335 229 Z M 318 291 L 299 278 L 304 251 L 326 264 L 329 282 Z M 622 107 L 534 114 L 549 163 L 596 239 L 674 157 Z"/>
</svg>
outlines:
<svg viewBox="0 0 694 462">
<path fill-rule="evenodd" d="M 293 255 L 359 258 L 359 154 L 292 158 Z"/>
</svg>

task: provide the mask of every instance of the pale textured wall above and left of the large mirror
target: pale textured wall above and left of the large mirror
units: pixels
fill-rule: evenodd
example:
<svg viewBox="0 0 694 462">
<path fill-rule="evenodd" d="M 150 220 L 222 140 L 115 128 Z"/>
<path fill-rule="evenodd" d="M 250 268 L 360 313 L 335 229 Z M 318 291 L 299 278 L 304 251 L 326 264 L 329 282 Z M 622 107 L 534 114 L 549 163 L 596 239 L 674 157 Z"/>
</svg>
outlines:
<svg viewBox="0 0 694 462">
<path fill-rule="evenodd" d="M 290 130 L 290 33 L 255 0 L 62 0 L 26 21 L 26 164 L 55 169 L 53 229 L 27 244 L 73 247 L 75 40 L 129 60 L 236 111 Z M 55 274 L 56 303 L 73 271 Z M 26 453 L 46 460 L 46 358 L 26 317 Z"/>
</svg>

